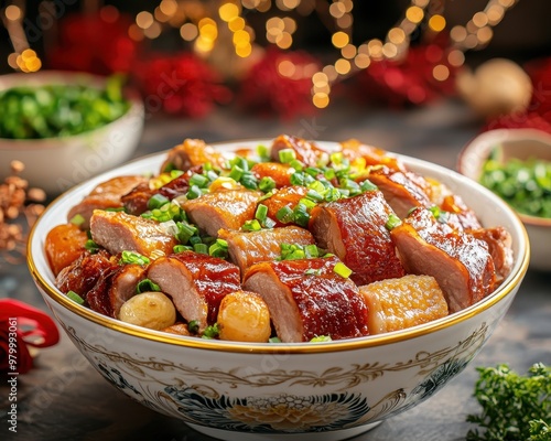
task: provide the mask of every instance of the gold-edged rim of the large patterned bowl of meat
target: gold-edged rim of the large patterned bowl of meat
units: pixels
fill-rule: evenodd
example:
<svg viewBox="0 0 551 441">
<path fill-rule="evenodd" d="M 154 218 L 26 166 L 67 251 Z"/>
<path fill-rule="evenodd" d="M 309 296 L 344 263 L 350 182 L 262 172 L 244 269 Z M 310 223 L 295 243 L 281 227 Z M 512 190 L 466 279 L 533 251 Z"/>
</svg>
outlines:
<svg viewBox="0 0 551 441">
<path fill-rule="evenodd" d="M 244 139 L 244 140 L 228 140 L 224 142 L 213 142 L 209 143 L 213 147 L 217 148 L 224 148 L 227 144 L 239 144 L 242 147 L 252 147 L 252 146 L 258 146 L 258 144 L 270 144 L 273 141 L 273 139 Z M 314 141 L 318 144 L 337 144 L 337 142 L 333 141 Z M 246 146 L 245 146 L 246 144 Z M 148 155 L 143 155 L 141 158 L 138 158 L 133 161 L 127 162 L 126 164 L 121 165 L 128 165 L 132 164 L 136 162 L 141 162 L 141 161 L 148 161 L 153 158 L 158 158 L 160 155 L 163 155 L 168 152 L 165 151 L 159 151 L 155 153 L 151 153 Z M 393 152 L 388 152 L 390 154 L 396 154 L 399 158 L 403 158 L 408 160 L 412 164 L 419 164 L 419 165 L 424 165 L 424 166 L 430 166 L 435 170 L 439 170 L 441 172 L 447 173 L 451 176 L 454 176 L 456 179 L 465 179 L 464 175 L 446 169 L 442 165 L 431 163 L 429 161 L 415 159 L 412 157 L 408 157 L 406 154 L 397 154 Z M 114 172 L 117 172 L 117 170 L 120 169 L 116 168 L 111 171 L 101 173 L 97 176 L 95 176 L 91 180 L 87 180 L 73 189 L 66 191 L 65 193 L 61 194 L 57 196 L 52 203 L 44 209 L 44 212 L 41 214 L 41 216 L 36 219 L 34 225 L 32 226 L 30 233 L 29 233 L 29 238 L 28 238 L 28 252 L 26 252 L 26 263 L 29 267 L 29 270 L 32 275 L 32 277 L 35 280 L 35 283 L 41 288 L 43 293 L 47 294 L 47 297 L 60 304 L 61 306 L 69 310 L 69 312 L 75 313 L 76 315 L 80 316 L 82 319 L 91 321 L 96 324 L 99 324 L 101 326 L 105 326 L 109 330 L 117 331 L 127 335 L 131 335 L 138 338 L 144 338 L 148 341 L 154 341 L 154 342 L 160 342 L 160 343 L 165 343 L 165 344 L 171 344 L 175 346 L 181 346 L 181 347 L 192 347 L 195 349 L 205 349 L 205 351 L 217 351 L 217 352 L 233 352 L 233 353 L 255 353 L 255 354 L 305 354 L 305 353 L 333 353 L 333 352 L 342 352 L 342 351 L 354 351 L 354 349 L 359 349 L 359 348 L 367 348 L 367 347 L 376 347 L 376 346 L 381 346 L 381 345 L 389 345 L 392 343 L 398 343 L 398 342 L 403 342 L 407 340 L 413 340 L 415 337 L 421 337 L 423 335 L 432 334 L 435 333 L 440 330 L 444 330 L 447 327 L 451 327 L 457 323 L 467 321 L 471 318 L 474 318 L 475 315 L 490 309 L 494 304 L 498 303 L 503 299 L 505 299 L 508 294 L 515 291 L 515 289 L 519 286 L 519 283 L 522 281 L 529 266 L 530 261 L 530 244 L 528 239 L 528 234 L 526 232 L 525 226 L 520 222 L 519 217 L 516 215 L 516 213 L 498 196 L 496 196 L 493 192 L 490 192 L 488 189 L 484 187 L 483 185 L 476 183 L 475 181 L 468 180 L 466 181 L 466 184 L 469 186 L 476 187 L 478 192 L 485 193 L 487 197 L 493 200 L 496 205 L 499 206 L 500 209 L 505 212 L 509 212 L 509 214 L 512 214 L 512 218 L 518 220 L 517 224 L 517 229 L 521 234 L 520 237 L 520 249 L 519 249 L 519 256 L 516 259 L 516 263 L 514 268 L 511 269 L 511 272 L 509 276 L 506 278 L 506 280 L 488 297 L 485 299 L 480 300 L 479 302 L 473 304 L 472 306 L 468 306 L 462 311 L 458 311 L 454 314 L 447 315 L 442 319 L 437 319 L 435 321 L 424 323 L 421 325 L 417 325 L 413 327 L 409 327 L 406 330 L 401 331 L 395 331 L 395 332 L 389 332 L 385 334 L 378 334 L 378 335 L 368 335 L 365 337 L 356 337 L 356 338 L 347 338 L 347 340 L 338 340 L 338 341 L 333 341 L 333 342 L 321 342 L 321 343 L 244 343 L 244 342 L 229 342 L 229 341 L 217 341 L 217 340 L 204 340 L 204 338 L 198 338 L 198 337 L 187 337 L 187 336 L 181 336 L 181 335 L 175 335 L 166 332 L 161 332 L 161 331 L 154 331 L 150 329 L 145 329 L 142 326 L 137 326 L 132 325 L 129 323 L 121 322 L 120 320 L 112 319 L 106 315 L 102 315 L 100 313 L 97 313 L 89 308 L 83 306 L 74 302 L 73 300 L 68 299 L 66 295 L 64 295 L 57 288 L 52 286 L 46 278 L 40 273 L 37 270 L 37 266 L 34 260 L 33 256 L 33 244 L 40 244 L 39 239 L 35 239 L 35 233 L 37 229 L 37 226 L 41 223 L 41 219 L 48 213 L 50 211 L 54 209 L 57 203 L 64 197 L 66 197 L 69 193 L 77 191 L 78 189 L 89 185 L 90 181 L 94 182 L 101 182 L 104 180 L 104 175 L 107 174 L 112 174 Z M 52 308 L 51 305 L 48 305 Z"/>
</svg>

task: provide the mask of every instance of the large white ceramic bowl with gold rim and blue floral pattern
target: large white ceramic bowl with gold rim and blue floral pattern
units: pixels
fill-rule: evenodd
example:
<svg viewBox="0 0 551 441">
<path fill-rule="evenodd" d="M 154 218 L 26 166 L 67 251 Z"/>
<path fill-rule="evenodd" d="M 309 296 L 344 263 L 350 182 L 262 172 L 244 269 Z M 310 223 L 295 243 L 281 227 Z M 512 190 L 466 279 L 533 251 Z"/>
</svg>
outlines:
<svg viewBox="0 0 551 441">
<path fill-rule="evenodd" d="M 507 204 L 458 173 L 401 158 L 463 195 L 484 225 L 506 227 L 515 251 L 511 273 L 493 294 L 406 331 L 320 344 L 205 341 L 126 324 L 68 300 L 55 288 L 46 262 L 46 233 L 99 182 L 155 172 L 164 153 L 95 178 L 54 201 L 30 234 L 29 268 L 78 349 L 109 383 L 142 405 L 215 438 L 343 440 L 417 406 L 460 374 L 505 315 L 528 268 L 528 237 Z"/>
</svg>

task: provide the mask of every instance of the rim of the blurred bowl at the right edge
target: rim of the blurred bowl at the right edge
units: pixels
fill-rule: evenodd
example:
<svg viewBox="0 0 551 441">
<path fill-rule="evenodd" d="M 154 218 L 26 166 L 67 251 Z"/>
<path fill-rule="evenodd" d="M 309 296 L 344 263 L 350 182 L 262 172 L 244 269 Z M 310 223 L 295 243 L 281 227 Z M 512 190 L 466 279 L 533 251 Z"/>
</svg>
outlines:
<svg viewBox="0 0 551 441">
<path fill-rule="evenodd" d="M 471 142 L 468 142 L 461 150 L 456 163 L 456 169 L 460 173 L 463 174 L 465 171 L 463 162 L 466 155 L 472 151 L 476 151 L 482 147 L 485 147 L 488 140 L 491 140 L 494 143 L 498 141 L 504 142 L 504 141 L 537 140 L 549 144 L 549 149 L 551 151 L 551 133 L 548 133 L 547 131 L 543 130 L 532 129 L 532 128 L 512 128 L 512 129 L 499 128 L 499 129 L 487 130 L 473 138 Z M 467 175 L 465 174 L 465 176 Z M 467 178 L 475 179 L 474 176 L 467 176 Z M 537 227 L 551 227 L 551 218 L 530 216 L 529 214 L 519 212 L 516 213 L 520 217 L 520 219 L 527 225 Z"/>
</svg>

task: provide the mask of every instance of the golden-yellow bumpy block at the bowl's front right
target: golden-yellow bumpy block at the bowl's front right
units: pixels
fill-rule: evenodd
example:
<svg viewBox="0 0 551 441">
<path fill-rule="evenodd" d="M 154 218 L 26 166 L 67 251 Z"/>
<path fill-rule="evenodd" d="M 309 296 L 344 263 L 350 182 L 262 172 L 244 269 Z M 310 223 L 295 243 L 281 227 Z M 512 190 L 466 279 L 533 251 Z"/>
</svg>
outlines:
<svg viewBox="0 0 551 441">
<path fill-rule="evenodd" d="M 369 309 L 369 332 L 404 330 L 447 315 L 447 303 L 431 276 L 408 275 L 359 287 Z"/>
</svg>

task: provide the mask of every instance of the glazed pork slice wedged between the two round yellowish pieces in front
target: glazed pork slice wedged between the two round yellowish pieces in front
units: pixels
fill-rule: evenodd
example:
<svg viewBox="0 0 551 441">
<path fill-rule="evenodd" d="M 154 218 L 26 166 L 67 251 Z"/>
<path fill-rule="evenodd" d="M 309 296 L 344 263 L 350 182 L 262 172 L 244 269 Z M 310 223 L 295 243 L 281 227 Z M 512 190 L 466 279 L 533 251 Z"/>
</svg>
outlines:
<svg viewBox="0 0 551 441">
<path fill-rule="evenodd" d="M 222 299 L 241 289 L 237 266 L 193 251 L 156 259 L 148 278 L 172 298 L 187 322 L 197 321 L 199 332 L 216 322 Z"/>
</svg>

